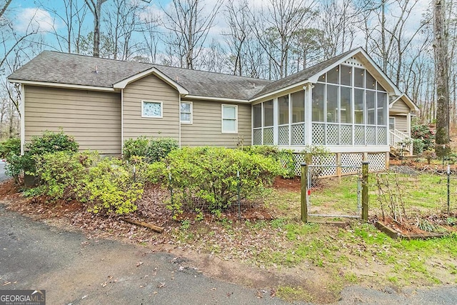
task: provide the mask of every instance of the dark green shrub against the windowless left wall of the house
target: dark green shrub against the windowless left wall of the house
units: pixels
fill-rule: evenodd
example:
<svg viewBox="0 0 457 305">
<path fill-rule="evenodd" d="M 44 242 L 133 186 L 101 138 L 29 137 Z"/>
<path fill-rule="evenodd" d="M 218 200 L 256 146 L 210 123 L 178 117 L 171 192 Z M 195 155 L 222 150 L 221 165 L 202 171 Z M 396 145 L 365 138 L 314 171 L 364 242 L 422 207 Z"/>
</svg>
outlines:
<svg viewBox="0 0 457 305">
<path fill-rule="evenodd" d="M 76 152 L 79 149 L 79 144 L 73 136 L 65 134 L 64 131 L 44 131 L 41 136 L 32 136 L 26 149 L 31 155 L 42 155 L 55 151 Z"/>
</svg>

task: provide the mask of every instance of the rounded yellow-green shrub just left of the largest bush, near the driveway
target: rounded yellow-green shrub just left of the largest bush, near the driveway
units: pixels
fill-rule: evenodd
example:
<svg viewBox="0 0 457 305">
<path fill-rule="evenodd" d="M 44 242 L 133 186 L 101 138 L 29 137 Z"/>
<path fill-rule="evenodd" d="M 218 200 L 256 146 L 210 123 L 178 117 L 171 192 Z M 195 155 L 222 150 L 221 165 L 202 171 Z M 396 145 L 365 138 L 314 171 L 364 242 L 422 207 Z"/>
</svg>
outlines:
<svg viewBox="0 0 457 305">
<path fill-rule="evenodd" d="M 101 159 L 89 168 L 82 180 L 79 197 L 91 204 L 89 211 L 129 214 L 136 211 L 136 200 L 143 194 L 143 184 L 134 181 L 133 166 L 119 159 Z"/>
</svg>

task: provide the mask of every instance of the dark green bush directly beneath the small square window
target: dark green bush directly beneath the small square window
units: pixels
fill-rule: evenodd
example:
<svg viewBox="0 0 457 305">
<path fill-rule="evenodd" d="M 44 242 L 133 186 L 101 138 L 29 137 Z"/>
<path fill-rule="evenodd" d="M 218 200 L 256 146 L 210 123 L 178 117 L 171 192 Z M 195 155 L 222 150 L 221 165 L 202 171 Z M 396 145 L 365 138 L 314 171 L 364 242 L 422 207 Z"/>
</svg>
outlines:
<svg viewBox="0 0 457 305">
<path fill-rule="evenodd" d="M 124 142 L 124 159 L 131 160 L 134 156 L 144 157 L 144 160 L 152 163 L 161 161 L 174 149 L 178 148 L 178 142 L 171 138 L 146 139 L 139 136 L 136 139 L 128 139 Z"/>
</svg>

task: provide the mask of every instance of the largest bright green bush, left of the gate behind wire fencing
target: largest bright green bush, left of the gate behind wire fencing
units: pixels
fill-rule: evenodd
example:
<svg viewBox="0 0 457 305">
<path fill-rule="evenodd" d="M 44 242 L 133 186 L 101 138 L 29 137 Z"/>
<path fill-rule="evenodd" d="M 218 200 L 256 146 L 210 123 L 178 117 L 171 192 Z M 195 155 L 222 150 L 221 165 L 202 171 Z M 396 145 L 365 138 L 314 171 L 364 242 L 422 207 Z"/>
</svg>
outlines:
<svg viewBox="0 0 457 305">
<path fill-rule="evenodd" d="M 238 149 L 195 147 L 172 151 L 166 158 L 171 173 L 175 211 L 220 211 L 237 200 L 237 171 L 241 198 L 254 199 L 275 176 L 284 174 L 280 162 Z M 165 169 L 165 167 L 162 167 Z M 163 174 L 167 177 L 167 174 Z"/>
</svg>

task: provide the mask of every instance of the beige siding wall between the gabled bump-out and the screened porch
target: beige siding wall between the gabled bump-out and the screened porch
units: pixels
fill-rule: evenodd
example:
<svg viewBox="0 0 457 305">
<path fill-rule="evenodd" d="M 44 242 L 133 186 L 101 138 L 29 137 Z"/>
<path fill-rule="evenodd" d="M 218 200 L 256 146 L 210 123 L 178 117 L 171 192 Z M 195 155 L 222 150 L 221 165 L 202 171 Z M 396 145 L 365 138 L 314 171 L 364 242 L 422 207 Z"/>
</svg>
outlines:
<svg viewBox="0 0 457 305">
<path fill-rule="evenodd" d="M 193 124 L 181 124 L 181 146 L 236 147 L 238 137 L 251 145 L 251 105 L 238 104 L 238 134 L 221 132 L 222 103 L 193 101 Z"/>
</svg>

